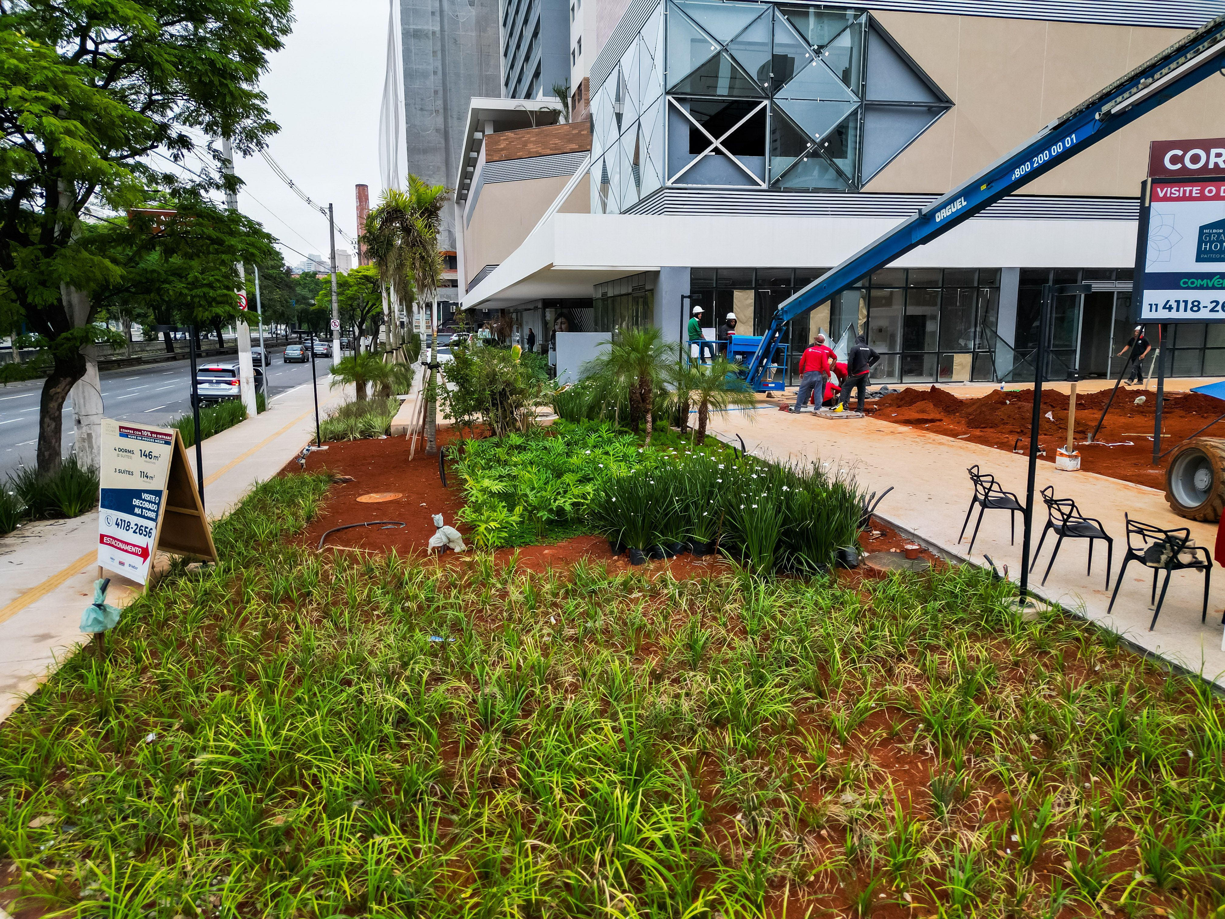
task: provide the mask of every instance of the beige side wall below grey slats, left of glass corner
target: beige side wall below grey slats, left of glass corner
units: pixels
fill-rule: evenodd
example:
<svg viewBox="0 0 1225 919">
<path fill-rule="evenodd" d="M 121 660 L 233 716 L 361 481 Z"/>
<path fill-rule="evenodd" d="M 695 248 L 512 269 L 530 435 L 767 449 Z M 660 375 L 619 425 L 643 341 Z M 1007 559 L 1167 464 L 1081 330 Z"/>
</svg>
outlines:
<svg viewBox="0 0 1225 919">
<path fill-rule="evenodd" d="M 464 288 L 486 265 L 501 265 L 537 225 L 571 176 L 488 183 L 480 190 L 472 219 L 464 228 Z M 590 181 L 579 179 L 561 213 L 588 213 Z"/>
</svg>

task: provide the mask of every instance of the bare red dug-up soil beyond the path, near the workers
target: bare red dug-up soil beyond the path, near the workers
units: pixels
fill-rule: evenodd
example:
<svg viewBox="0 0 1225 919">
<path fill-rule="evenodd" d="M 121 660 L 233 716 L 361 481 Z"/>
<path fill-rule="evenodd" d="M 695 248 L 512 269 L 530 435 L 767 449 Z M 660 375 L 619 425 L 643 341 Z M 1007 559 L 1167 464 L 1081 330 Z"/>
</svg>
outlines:
<svg viewBox="0 0 1225 919">
<path fill-rule="evenodd" d="M 1136 404 L 1136 399 L 1142 396 L 1144 402 Z M 1164 489 L 1167 460 L 1163 460 L 1160 466 L 1153 466 L 1155 392 L 1120 386 L 1095 442 L 1085 444 L 1109 397 L 1109 390 L 1077 396 L 1076 448 L 1080 452 L 1080 468 L 1112 479 Z M 1031 390 L 993 391 L 980 398 L 959 399 L 948 390 L 933 386 L 931 390 L 911 388 L 891 393 L 870 403 L 869 409 L 883 422 L 996 450 L 1016 448 L 1028 452 L 1033 407 Z M 1044 390 L 1041 413 L 1038 442 L 1046 448 L 1046 456 L 1039 458 L 1054 463 L 1055 450 L 1067 442 L 1068 396 Z M 1221 414 L 1225 414 L 1225 402 L 1221 399 L 1196 392 L 1167 393 L 1161 410 L 1161 450 L 1169 450 Z M 1225 437 L 1225 422 L 1209 428 L 1203 436 Z"/>
</svg>

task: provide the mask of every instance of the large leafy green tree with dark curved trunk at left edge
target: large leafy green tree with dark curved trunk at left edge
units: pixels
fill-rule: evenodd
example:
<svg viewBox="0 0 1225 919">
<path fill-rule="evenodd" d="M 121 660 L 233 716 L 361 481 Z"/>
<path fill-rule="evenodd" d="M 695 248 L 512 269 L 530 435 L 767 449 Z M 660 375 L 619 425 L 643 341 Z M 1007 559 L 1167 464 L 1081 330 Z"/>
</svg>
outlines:
<svg viewBox="0 0 1225 919">
<path fill-rule="evenodd" d="M 64 401 L 87 368 L 96 292 L 123 267 L 82 240 L 83 223 L 180 183 L 189 131 L 250 154 L 277 130 L 257 87 L 292 23 L 289 0 L 0 0 L 0 278 L 48 342 L 38 469 L 60 464 Z M 201 184 L 221 175 L 219 153 Z M 195 180 L 192 180 L 195 181 Z M 192 294 L 198 297 L 198 293 Z"/>
</svg>

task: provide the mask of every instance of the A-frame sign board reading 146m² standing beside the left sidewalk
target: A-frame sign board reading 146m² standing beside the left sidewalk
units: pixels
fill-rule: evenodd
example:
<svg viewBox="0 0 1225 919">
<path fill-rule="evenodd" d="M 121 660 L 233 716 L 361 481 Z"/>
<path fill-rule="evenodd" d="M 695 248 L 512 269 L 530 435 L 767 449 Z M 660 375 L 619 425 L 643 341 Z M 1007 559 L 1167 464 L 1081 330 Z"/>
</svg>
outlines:
<svg viewBox="0 0 1225 919">
<path fill-rule="evenodd" d="M 102 422 L 98 565 L 146 583 L 160 549 L 217 560 L 179 431 Z"/>
</svg>

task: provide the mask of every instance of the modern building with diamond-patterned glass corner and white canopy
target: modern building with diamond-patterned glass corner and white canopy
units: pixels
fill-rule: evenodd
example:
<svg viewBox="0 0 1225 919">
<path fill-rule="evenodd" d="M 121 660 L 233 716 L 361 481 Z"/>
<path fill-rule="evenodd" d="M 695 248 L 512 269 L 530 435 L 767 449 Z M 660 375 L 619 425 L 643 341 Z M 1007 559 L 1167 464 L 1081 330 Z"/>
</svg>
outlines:
<svg viewBox="0 0 1225 919">
<path fill-rule="evenodd" d="M 696 303 L 761 333 L 795 290 L 1221 5 L 1001 10 L 630 0 L 589 69 L 589 161 L 554 201 L 523 196 L 540 217 L 503 239 L 495 267 L 466 272 L 464 305 L 526 314 L 590 298 L 592 332 L 653 323 L 675 339 Z M 1148 145 L 1223 135 L 1216 75 L 794 320 L 789 339 L 862 333 L 884 355 L 882 382 L 1019 379 L 1041 284 L 1084 282 L 1091 294 L 1055 304 L 1055 360 L 1117 373 Z M 467 235 L 488 234 L 478 216 Z M 1165 343 L 1175 373 L 1225 374 L 1219 332 L 1178 328 Z"/>
</svg>

